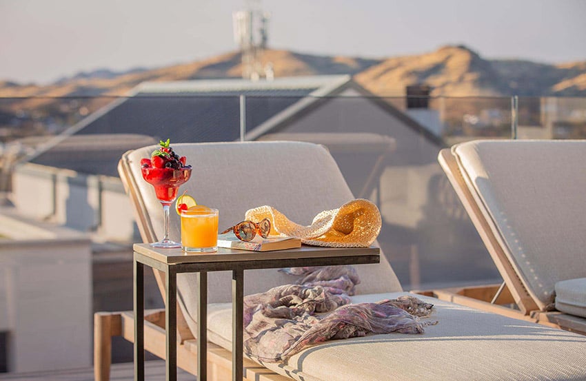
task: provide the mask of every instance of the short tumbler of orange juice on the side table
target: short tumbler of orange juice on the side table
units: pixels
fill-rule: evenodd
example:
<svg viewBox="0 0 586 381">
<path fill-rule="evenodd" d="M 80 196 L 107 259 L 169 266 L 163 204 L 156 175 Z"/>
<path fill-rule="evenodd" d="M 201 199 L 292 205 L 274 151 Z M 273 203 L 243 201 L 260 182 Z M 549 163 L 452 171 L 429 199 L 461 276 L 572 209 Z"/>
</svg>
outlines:
<svg viewBox="0 0 586 381">
<path fill-rule="evenodd" d="M 184 251 L 217 250 L 218 209 L 198 205 L 181 212 L 181 247 Z"/>
</svg>

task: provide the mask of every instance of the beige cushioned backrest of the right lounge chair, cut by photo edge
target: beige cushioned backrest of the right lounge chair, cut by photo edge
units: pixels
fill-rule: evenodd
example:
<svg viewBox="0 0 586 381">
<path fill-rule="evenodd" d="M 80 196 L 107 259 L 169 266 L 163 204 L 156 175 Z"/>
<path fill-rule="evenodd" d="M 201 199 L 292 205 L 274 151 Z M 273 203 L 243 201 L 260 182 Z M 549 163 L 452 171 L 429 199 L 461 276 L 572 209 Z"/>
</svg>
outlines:
<svg viewBox="0 0 586 381">
<path fill-rule="evenodd" d="M 586 274 L 586 141 L 471 141 L 452 155 L 510 265 L 548 309 L 556 282 Z"/>
</svg>

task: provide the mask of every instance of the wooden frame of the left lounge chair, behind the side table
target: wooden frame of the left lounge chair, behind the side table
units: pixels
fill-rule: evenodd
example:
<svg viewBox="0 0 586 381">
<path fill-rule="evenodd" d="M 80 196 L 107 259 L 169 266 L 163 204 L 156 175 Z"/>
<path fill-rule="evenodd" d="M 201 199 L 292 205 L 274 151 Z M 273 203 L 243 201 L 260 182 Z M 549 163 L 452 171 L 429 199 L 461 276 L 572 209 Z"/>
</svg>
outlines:
<svg viewBox="0 0 586 381">
<path fill-rule="evenodd" d="M 146 207 L 138 196 L 138 185 L 130 174 L 130 168 L 121 160 L 118 165 L 120 178 L 132 203 L 143 242 L 154 242 L 156 235 L 148 218 Z M 154 278 L 165 302 L 165 274 L 153 269 Z M 179 306 L 177 315 L 177 366 L 193 375 L 197 371 L 197 342 L 188 327 Z M 110 380 L 112 363 L 112 337 L 121 336 L 134 342 L 134 314 L 132 311 L 98 312 L 94 314 L 94 379 Z M 145 311 L 144 347 L 155 356 L 165 358 L 165 310 Z M 286 381 L 291 380 L 244 358 L 243 380 L 247 381 Z M 208 342 L 208 380 L 230 380 L 232 374 L 232 353 Z"/>
</svg>

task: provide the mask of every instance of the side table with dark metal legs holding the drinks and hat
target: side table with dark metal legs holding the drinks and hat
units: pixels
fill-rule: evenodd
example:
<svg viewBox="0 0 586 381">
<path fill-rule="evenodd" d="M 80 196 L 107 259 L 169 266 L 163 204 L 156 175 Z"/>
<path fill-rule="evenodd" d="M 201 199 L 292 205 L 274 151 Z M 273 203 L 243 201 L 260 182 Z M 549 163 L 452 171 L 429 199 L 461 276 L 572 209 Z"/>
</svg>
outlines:
<svg viewBox="0 0 586 381">
<path fill-rule="evenodd" d="M 378 247 L 303 245 L 297 249 L 265 252 L 220 248 L 210 254 L 185 254 L 181 249 L 134 244 L 134 380 L 144 380 L 144 265 L 165 273 L 165 373 L 168 381 L 177 379 L 177 274 L 197 274 L 197 379 L 205 381 L 208 371 L 208 272 L 232 271 L 232 380 L 242 380 L 244 270 L 378 263 L 379 255 Z"/>
</svg>

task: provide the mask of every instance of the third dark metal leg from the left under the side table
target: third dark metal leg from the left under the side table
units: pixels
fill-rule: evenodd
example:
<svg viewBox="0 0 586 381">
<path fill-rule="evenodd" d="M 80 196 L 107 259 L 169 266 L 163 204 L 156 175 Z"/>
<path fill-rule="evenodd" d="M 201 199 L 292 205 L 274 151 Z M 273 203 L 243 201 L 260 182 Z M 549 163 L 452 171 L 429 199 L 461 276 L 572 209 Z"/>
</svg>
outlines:
<svg viewBox="0 0 586 381">
<path fill-rule="evenodd" d="M 197 381 L 208 380 L 208 273 L 197 273 Z"/>
</svg>

